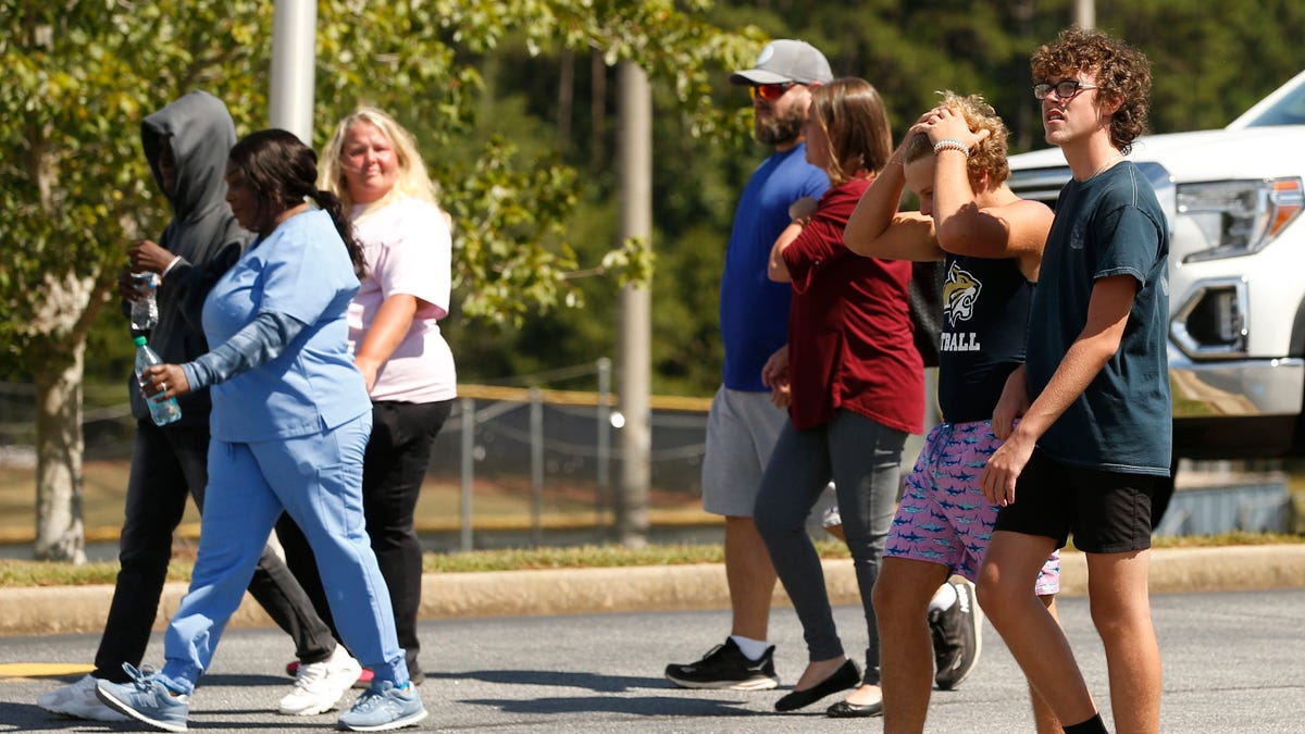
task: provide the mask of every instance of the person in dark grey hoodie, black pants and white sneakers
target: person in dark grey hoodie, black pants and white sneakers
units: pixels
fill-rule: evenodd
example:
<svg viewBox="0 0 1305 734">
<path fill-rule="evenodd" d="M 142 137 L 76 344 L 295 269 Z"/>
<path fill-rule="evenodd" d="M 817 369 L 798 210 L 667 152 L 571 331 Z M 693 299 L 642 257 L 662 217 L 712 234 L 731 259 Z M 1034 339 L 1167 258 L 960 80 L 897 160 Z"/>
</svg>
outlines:
<svg viewBox="0 0 1305 734">
<path fill-rule="evenodd" d="M 189 362 L 209 349 L 200 325 L 204 298 L 249 239 L 226 201 L 235 125 L 219 99 L 192 91 L 145 118 L 141 144 L 174 215 L 157 244 L 144 240 L 129 248 L 130 268 L 124 269 L 119 289 L 125 312 L 128 302 L 140 296 L 130 272 L 162 276 L 158 324 L 146 336 L 164 362 Z M 164 427 L 150 421 L 134 375 L 128 393 L 137 423 L 119 546 L 121 571 L 95 653 L 95 671 L 38 701 L 55 713 L 98 721 L 124 720 L 95 697 L 95 679 L 127 682 L 123 663 L 141 663 L 172 555 L 172 532 L 188 494 L 202 512 L 207 483 L 209 392 L 181 396 L 181 419 Z M 330 628 L 270 549 L 258 562 L 249 593 L 294 637 L 301 662 L 281 713 L 311 716 L 334 708 L 360 667 L 337 646 Z"/>
</svg>

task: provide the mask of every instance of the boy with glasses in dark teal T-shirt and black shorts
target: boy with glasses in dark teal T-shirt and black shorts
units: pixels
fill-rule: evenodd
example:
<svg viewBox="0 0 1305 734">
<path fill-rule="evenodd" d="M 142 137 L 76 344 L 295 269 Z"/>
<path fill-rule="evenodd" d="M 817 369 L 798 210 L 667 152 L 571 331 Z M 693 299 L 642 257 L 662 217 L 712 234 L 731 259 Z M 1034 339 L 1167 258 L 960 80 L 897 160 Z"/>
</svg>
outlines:
<svg viewBox="0 0 1305 734">
<path fill-rule="evenodd" d="M 1169 474 L 1168 229 L 1124 155 L 1146 128 L 1150 63 L 1069 29 L 1032 57 L 1047 141 L 1073 171 L 1043 255 L 1026 366 L 993 413 L 1005 444 L 980 477 L 1002 505 L 979 601 L 1066 734 L 1105 726 L 1060 626 L 1032 594 L 1073 533 L 1086 552 L 1120 733 L 1160 726 L 1147 564 L 1151 498 Z"/>
</svg>

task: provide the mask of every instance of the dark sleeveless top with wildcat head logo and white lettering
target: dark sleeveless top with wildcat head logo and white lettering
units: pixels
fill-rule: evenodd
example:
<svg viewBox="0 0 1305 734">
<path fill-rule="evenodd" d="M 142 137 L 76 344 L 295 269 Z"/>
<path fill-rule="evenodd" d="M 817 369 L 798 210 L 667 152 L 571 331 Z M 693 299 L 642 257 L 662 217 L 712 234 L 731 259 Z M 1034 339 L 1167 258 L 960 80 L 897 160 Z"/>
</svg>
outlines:
<svg viewBox="0 0 1305 734">
<path fill-rule="evenodd" d="M 947 423 L 988 421 L 1024 362 L 1034 283 L 1009 257 L 947 255 L 944 268 L 938 406 Z"/>
</svg>

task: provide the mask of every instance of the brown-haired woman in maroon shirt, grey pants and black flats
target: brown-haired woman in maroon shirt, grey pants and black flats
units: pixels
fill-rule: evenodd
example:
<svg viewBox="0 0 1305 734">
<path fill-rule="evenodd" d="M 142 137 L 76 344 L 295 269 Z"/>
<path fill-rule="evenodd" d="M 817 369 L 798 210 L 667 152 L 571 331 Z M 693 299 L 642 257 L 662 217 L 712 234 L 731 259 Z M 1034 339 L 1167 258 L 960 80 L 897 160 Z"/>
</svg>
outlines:
<svg viewBox="0 0 1305 734">
<path fill-rule="evenodd" d="M 861 257 L 843 246 L 861 193 L 890 165 L 891 131 L 878 91 L 859 78 L 814 89 L 804 133 L 808 159 L 825 168 L 831 187 L 818 204 L 793 206 L 793 222 L 770 259 L 771 279 L 788 281 L 793 302 L 788 345 L 762 379 L 776 402 L 788 404 L 790 421 L 762 477 L 754 517 L 803 623 L 809 662 L 775 708 L 793 710 L 856 688 L 827 713 L 876 716 L 882 697 L 870 590 L 893 520 L 902 445 L 924 428 L 924 364 L 912 341 L 911 263 Z M 864 675 L 843 653 L 805 526 L 831 479 L 865 611 Z"/>
</svg>

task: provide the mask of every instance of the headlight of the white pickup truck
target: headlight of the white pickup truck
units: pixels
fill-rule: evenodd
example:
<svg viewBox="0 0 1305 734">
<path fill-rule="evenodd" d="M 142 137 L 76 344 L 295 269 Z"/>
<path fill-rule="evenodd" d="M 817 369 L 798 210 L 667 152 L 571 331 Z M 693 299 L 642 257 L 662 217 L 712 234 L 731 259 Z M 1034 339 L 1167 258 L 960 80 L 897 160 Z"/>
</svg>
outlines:
<svg viewBox="0 0 1305 734">
<path fill-rule="evenodd" d="M 1178 184 L 1177 206 L 1207 244 L 1185 263 L 1238 257 L 1263 249 L 1305 209 L 1305 184 L 1297 176 Z"/>
</svg>

